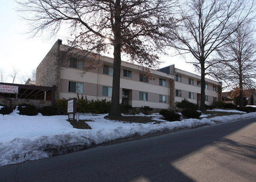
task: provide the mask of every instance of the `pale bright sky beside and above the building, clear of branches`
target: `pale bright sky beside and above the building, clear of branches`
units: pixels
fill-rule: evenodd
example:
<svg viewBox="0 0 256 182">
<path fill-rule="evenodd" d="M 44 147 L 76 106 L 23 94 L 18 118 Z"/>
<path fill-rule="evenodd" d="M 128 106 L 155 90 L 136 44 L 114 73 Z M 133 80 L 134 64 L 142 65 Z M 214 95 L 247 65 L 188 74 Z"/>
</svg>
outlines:
<svg viewBox="0 0 256 182">
<path fill-rule="evenodd" d="M 21 20 L 21 12 L 15 11 L 17 3 L 14 0 L 4 1 L 0 0 L 0 37 L 2 44 L 0 44 L 0 69 L 4 72 L 6 83 L 12 83 L 13 79 L 9 74 L 13 70 L 18 71 L 18 78 L 15 78 L 14 83 L 21 84 L 21 77 L 31 75 L 32 70 L 36 69 L 45 55 L 50 51 L 54 43 L 61 39 L 62 44 L 67 44 L 65 35 L 60 33 L 45 40 L 45 37 L 33 37 L 28 34 L 28 26 L 25 20 Z M 65 30 L 61 30 L 65 32 Z M 108 55 L 113 57 L 113 55 Z M 164 63 L 159 66 L 165 67 L 175 64 L 175 67 L 185 71 L 194 73 L 194 68 L 191 64 L 187 64 L 184 58 L 181 57 L 163 57 L 161 61 Z M 198 73 L 197 73 L 198 74 Z"/>
</svg>

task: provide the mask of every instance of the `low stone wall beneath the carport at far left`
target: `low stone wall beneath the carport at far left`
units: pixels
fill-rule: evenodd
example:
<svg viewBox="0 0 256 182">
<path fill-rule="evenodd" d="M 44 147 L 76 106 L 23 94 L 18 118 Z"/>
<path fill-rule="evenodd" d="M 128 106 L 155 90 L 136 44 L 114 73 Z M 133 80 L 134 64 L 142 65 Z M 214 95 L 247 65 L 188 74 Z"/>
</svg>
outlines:
<svg viewBox="0 0 256 182">
<path fill-rule="evenodd" d="M 37 108 L 43 106 L 52 106 L 51 100 L 34 100 L 34 99 L 22 99 L 22 98 L 11 98 L 12 100 L 12 108 L 15 109 L 19 104 L 30 104 Z M 4 98 L 0 98 L 0 104 L 4 104 L 9 107 L 10 101 Z"/>
</svg>

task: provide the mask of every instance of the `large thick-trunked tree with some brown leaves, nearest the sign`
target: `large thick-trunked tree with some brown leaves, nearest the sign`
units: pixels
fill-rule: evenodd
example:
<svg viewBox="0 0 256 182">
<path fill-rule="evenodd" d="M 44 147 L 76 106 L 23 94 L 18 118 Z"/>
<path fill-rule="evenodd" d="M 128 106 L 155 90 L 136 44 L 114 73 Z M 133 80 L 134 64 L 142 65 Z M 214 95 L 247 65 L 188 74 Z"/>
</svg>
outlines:
<svg viewBox="0 0 256 182">
<path fill-rule="evenodd" d="M 154 68 L 163 51 L 166 29 L 173 26 L 175 0 L 25 0 L 20 11 L 32 33 L 56 35 L 69 26 L 72 47 L 100 54 L 113 48 L 113 89 L 109 115 L 120 116 L 121 53 L 131 62 Z M 108 40 L 108 41 L 106 41 Z M 95 56 L 96 58 L 97 56 Z"/>
</svg>

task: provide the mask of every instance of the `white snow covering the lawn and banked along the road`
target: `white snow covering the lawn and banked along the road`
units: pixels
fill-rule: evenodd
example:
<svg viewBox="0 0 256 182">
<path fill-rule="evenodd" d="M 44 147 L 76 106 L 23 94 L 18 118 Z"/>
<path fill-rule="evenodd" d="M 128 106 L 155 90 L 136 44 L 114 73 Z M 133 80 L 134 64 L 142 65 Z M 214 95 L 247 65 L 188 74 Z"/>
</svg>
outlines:
<svg viewBox="0 0 256 182">
<path fill-rule="evenodd" d="M 230 112 L 234 111 L 236 110 L 230 110 Z M 159 113 L 147 115 L 152 116 L 156 121 L 161 121 L 160 124 L 120 122 L 106 120 L 104 116 L 106 114 L 81 113 L 80 120 L 91 120 L 86 123 L 92 129 L 76 129 L 67 122 L 66 115 L 42 116 L 39 113 L 37 116 L 24 116 L 19 115 L 17 109 L 9 115 L 0 115 L 0 166 L 78 151 L 94 144 L 130 136 L 142 136 L 185 127 L 193 128 L 204 124 L 213 125 L 214 121 L 228 122 L 255 117 L 256 113 L 213 118 L 205 118 L 204 115 L 202 119 L 183 119 L 175 122 L 162 120 Z M 140 113 L 139 116 L 146 115 Z"/>
</svg>

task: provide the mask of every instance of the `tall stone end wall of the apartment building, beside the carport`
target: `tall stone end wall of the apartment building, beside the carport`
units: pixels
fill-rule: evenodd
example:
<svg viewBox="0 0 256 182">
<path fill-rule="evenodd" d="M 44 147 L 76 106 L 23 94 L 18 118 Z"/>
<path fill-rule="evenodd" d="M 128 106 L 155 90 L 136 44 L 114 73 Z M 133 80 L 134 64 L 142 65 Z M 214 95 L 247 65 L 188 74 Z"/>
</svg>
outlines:
<svg viewBox="0 0 256 182">
<path fill-rule="evenodd" d="M 60 89 L 60 45 L 61 40 L 58 40 L 52 49 L 47 53 L 45 58 L 37 67 L 36 86 L 56 86 L 56 100 L 59 98 Z"/>
</svg>

